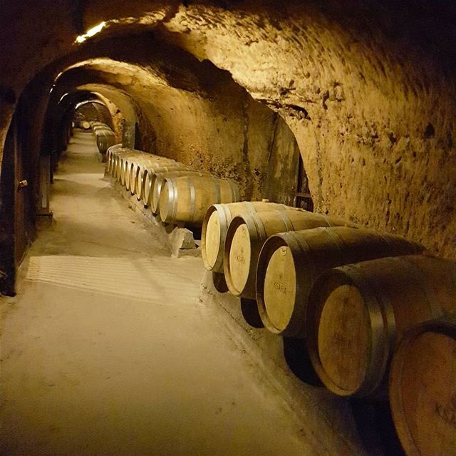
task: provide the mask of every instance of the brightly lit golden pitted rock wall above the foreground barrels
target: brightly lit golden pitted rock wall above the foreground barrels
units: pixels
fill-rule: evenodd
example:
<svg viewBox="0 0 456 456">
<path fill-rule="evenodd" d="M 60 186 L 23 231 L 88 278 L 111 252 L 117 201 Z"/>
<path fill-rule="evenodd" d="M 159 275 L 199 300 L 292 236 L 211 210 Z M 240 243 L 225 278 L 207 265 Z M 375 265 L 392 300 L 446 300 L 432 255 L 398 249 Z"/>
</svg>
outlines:
<svg viewBox="0 0 456 456">
<path fill-rule="evenodd" d="M 353 6 L 342 17 L 304 9 L 285 17 L 190 6 L 165 34 L 278 110 L 298 140 L 316 210 L 455 257 L 452 76 L 410 46 L 404 25 L 391 39 L 368 9 L 356 19 Z"/>
</svg>

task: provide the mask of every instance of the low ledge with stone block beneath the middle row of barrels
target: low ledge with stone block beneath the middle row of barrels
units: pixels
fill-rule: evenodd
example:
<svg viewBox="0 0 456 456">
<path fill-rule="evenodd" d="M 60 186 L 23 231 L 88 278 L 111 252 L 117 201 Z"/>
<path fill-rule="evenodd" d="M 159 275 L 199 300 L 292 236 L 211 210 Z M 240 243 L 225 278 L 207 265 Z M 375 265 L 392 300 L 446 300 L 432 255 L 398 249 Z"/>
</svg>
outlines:
<svg viewBox="0 0 456 456">
<path fill-rule="evenodd" d="M 140 214 L 146 223 L 152 224 L 152 226 L 155 227 L 163 244 L 170 249 L 172 257 L 201 256 L 201 249 L 199 248 L 198 242 L 195 241 L 190 229 L 185 228 L 183 224 L 176 226 L 163 223 L 160 217 L 153 215 L 150 209 L 142 204 L 142 201 L 138 201 L 136 195 L 132 195 L 129 190 L 126 190 L 125 187 L 112 176 L 105 173 L 105 179 L 108 180 L 115 190 L 118 191 L 119 195 L 128 202 L 128 206 L 131 209 Z"/>
</svg>

